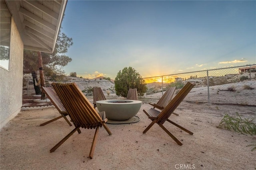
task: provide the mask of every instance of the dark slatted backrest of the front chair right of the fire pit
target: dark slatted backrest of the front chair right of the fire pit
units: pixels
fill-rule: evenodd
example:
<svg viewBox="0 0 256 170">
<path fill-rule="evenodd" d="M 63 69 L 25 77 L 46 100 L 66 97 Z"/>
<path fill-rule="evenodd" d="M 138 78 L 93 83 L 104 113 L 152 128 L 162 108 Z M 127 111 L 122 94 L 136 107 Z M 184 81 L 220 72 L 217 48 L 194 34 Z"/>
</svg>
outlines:
<svg viewBox="0 0 256 170">
<path fill-rule="evenodd" d="M 195 84 L 187 82 L 187 84 L 180 90 L 180 92 L 178 92 L 178 94 L 170 101 L 166 107 L 164 107 L 164 109 L 158 115 L 158 122 L 164 123 L 194 86 Z"/>
</svg>

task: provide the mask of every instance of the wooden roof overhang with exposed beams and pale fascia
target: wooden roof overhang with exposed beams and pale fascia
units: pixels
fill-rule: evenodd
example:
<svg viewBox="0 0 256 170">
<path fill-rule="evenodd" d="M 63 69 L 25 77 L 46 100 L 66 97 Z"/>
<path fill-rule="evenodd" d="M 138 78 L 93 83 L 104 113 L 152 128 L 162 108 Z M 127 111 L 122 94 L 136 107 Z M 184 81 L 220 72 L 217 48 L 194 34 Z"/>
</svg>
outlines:
<svg viewBox="0 0 256 170">
<path fill-rule="evenodd" d="M 24 49 L 53 53 L 67 0 L 6 0 Z"/>
</svg>

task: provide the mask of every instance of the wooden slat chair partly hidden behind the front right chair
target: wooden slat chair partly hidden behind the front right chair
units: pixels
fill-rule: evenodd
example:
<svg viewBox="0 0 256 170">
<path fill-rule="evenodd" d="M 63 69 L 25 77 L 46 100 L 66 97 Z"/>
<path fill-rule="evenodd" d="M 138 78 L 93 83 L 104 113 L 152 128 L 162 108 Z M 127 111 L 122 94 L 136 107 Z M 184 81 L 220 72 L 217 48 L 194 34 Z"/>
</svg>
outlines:
<svg viewBox="0 0 256 170">
<path fill-rule="evenodd" d="M 153 108 L 157 109 L 164 109 L 164 107 L 167 106 L 167 104 L 172 100 L 172 96 L 174 95 L 176 90 L 176 87 L 168 87 L 164 95 L 158 100 L 156 104 L 149 103 L 151 106 L 154 106 Z M 177 113 L 172 113 L 174 115 L 179 115 Z"/>
</svg>

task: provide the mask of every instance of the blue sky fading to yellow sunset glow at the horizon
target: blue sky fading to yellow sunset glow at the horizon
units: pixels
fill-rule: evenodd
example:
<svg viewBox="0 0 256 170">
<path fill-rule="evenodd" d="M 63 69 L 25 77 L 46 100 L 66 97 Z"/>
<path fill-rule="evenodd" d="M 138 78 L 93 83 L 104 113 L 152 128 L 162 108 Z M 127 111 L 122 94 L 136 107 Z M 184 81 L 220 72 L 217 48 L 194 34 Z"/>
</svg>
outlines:
<svg viewBox="0 0 256 170">
<path fill-rule="evenodd" d="M 256 64 L 256 1 L 68 0 L 67 75 L 142 78 Z"/>
</svg>

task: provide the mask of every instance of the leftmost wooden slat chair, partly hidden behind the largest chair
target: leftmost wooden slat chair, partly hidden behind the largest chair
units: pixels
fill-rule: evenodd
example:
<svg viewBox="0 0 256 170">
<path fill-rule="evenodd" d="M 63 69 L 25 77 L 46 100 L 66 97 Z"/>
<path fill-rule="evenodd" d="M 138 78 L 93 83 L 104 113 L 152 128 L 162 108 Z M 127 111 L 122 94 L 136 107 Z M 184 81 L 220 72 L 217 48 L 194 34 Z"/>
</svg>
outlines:
<svg viewBox="0 0 256 170">
<path fill-rule="evenodd" d="M 48 123 L 51 123 L 53 121 L 56 121 L 60 118 L 64 118 L 66 120 L 66 122 L 72 126 L 72 124 L 70 123 L 70 121 L 68 121 L 67 119 L 67 115 L 68 112 L 66 111 L 65 107 L 63 106 L 62 102 L 60 101 L 58 95 L 54 92 L 54 90 L 52 90 L 52 88 L 50 87 L 42 87 L 42 91 L 46 94 L 46 96 L 50 99 L 50 101 L 52 102 L 52 104 L 56 107 L 56 109 L 60 112 L 61 116 L 56 117 L 50 121 L 46 121 L 45 123 L 42 123 L 40 126 L 44 126 Z"/>
</svg>

